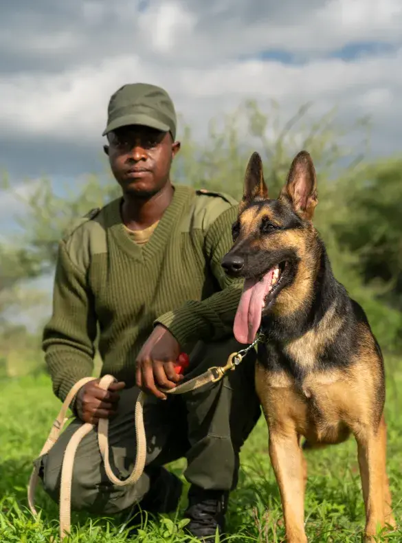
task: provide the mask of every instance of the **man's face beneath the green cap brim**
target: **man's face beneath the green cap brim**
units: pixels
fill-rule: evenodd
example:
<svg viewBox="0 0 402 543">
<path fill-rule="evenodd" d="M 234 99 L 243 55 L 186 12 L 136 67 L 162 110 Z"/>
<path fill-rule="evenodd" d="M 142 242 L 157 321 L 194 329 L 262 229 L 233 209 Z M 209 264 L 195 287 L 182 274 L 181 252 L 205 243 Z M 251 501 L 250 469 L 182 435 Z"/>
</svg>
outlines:
<svg viewBox="0 0 402 543">
<path fill-rule="evenodd" d="M 108 140 L 104 151 L 126 195 L 150 197 L 165 186 L 172 159 L 180 148 L 170 133 L 148 126 L 124 126 L 109 133 Z"/>
</svg>

